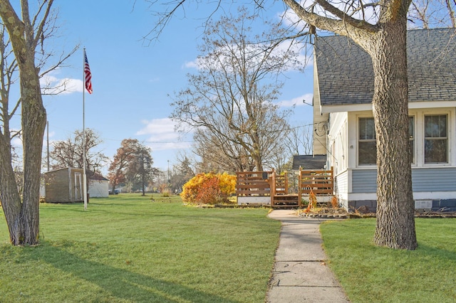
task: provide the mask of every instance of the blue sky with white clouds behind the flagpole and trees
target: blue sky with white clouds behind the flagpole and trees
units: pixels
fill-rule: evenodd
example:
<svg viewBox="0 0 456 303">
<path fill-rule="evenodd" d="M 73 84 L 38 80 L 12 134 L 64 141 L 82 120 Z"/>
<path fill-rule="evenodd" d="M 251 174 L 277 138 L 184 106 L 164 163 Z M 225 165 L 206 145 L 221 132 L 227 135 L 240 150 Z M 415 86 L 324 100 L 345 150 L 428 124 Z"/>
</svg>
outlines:
<svg viewBox="0 0 456 303">
<path fill-rule="evenodd" d="M 113 4 L 115 3 L 115 4 Z M 45 95 L 49 142 L 72 137 L 76 129 L 95 130 L 103 141 L 99 149 L 113 159 L 123 139 L 138 139 L 152 149 L 154 166 L 166 171 L 177 164 L 177 154 L 189 152 L 191 135 L 180 138 L 169 118 L 169 95 L 187 86 L 187 73 L 195 73 L 197 46 L 202 43 L 202 23 L 208 8 L 187 7 L 149 43 L 144 36 L 155 25 L 156 17 L 142 0 L 55 1 L 59 36 L 49 41 L 56 50 L 81 48 L 68 60 L 67 67 L 49 75 L 48 81 L 68 80 L 69 90 Z M 234 4 L 232 4 L 234 5 Z M 283 4 L 271 6 L 268 15 L 278 18 Z M 92 73 L 93 94 L 83 94 L 83 48 Z M 290 124 L 312 122 L 313 70 L 289 72 L 279 104 L 294 107 Z M 84 95 L 84 102 L 83 102 Z M 84 104 L 84 113 L 83 113 Z M 44 144 L 47 136 L 45 133 Z M 102 170 L 107 173 L 108 164 Z"/>
</svg>

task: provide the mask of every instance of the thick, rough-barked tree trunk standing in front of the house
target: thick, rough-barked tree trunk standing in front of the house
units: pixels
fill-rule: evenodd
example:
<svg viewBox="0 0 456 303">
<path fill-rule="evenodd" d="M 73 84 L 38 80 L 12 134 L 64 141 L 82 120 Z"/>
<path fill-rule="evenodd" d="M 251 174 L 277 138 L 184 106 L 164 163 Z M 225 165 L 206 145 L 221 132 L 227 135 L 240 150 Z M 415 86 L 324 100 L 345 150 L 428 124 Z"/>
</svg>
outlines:
<svg viewBox="0 0 456 303">
<path fill-rule="evenodd" d="M 369 49 L 375 73 L 377 224 L 374 243 L 414 250 L 414 201 L 408 152 L 408 76 L 405 21 L 383 25 Z"/>
</svg>

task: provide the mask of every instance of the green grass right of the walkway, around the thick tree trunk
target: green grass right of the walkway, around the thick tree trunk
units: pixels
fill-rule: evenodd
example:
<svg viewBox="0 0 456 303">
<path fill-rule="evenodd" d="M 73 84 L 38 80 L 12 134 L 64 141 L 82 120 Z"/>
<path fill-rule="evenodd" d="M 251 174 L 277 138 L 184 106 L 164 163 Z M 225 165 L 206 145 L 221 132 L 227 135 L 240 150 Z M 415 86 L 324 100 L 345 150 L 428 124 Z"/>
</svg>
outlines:
<svg viewBox="0 0 456 303">
<path fill-rule="evenodd" d="M 331 269 L 352 302 L 456 302 L 456 220 L 415 220 L 418 249 L 373 245 L 375 219 L 328 222 Z"/>
</svg>

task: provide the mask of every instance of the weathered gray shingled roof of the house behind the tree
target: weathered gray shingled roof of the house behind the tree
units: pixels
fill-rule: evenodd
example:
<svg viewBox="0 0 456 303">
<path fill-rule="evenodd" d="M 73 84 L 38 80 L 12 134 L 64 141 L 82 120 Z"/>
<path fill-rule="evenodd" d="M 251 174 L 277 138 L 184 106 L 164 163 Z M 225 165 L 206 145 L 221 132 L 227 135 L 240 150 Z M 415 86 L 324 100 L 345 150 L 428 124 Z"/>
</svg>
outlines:
<svg viewBox="0 0 456 303">
<path fill-rule="evenodd" d="M 409 102 L 456 100 L 455 28 L 407 32 Z M 344 36 L 318 37 L 316 68 L 321 105 L 368 104 L 371 57 Z"/>
</svg>

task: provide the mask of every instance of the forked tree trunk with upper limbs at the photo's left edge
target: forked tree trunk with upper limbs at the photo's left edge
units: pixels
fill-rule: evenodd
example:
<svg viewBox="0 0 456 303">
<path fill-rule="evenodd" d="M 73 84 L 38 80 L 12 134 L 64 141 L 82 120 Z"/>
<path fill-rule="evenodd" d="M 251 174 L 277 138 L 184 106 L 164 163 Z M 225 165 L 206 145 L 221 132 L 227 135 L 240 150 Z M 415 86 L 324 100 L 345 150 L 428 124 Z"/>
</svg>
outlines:
<svg viewBox="0 0 456 303">
<path fill-rule="evenodd" d="M 16 181 L 12 181 L 10 168 L 6 168 L 5 161 L 11 157 L 11 151 L 4 146 L 1 149 L 2 184 L 1 198 L 5 210 L 6 223 L 10 232 L 10 240 L 13 245 L 35 245 L 39 235 L 39 189 L 41 177 L 41 152 L 43 149 L 43 134 L 46 127 L 46 110 L 43 107 L 38 70 L 35 66 L 35 48 L 42 33 L 44 22 L 49 14 L 53 0 L 48 0 L 43 21 L 39 28 L 33 28 L 36 20 L 31 23 L 28 1 L 21 1 L 22 20 L 14 11 L 11 3 L 0 0 L 0 16 L 9 33 L 14 56 L 19 66 L 19 78 L 21 87 L 21 110 L 22 110 L 22 144 L 24 153 L 24 191 L 22 202 Z M 4 143 L 4 142 L 1 142 Z M 7 144 L 6 144 L 7 145 Z M 8 164 L 11 166 L 11 161 Z M 4 199 L 4 200 L 3 200 Z"/>
</svg>

